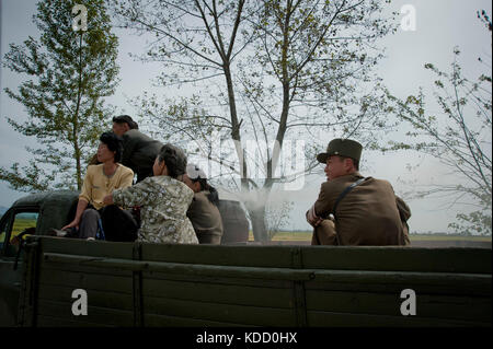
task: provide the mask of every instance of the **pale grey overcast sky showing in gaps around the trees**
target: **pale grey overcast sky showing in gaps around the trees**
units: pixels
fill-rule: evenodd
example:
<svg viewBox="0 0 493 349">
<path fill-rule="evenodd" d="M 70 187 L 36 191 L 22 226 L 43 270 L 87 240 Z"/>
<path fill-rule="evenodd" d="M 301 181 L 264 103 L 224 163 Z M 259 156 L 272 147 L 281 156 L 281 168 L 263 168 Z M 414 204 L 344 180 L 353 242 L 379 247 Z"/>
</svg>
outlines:
<svg viewBox="0 0 493 349">
<path fill-rule="evenodd" d="M 433 91 L 433 75 L 424 69 L 426 62 L 432 62 L 442 70 L 448 70 L 452 61 L 452 49 L 458 46 L 461 50 L 461 66 L 463 72 L 474 79 L 481 72 L 478 70 L 477 58 L 479 56 L 491 58 L 491 35 L 484 28 L 484 24 L 477 18 L 478 10 L 486 10 L 491 15 L 491 1 L 489 0 L 401 0 L 392 1 L 390 10 L 400 9 L 410 4 L 415 9 L 415 31 L 398 30 L 397 34 L 388 36 L 381 42 L 386 47 L 386 58 L 378 66 L 378 73 L 383 83 L 394 95 L 404 97 L 416 93 L 419 86 Z M 10 43 L 20 44 L 28 35 L 38 36 L 37 28 L 32 23 L 32 16 L 36 11 L 36 1 L 32 0 L 1 0 L 1 54 L 8 51 Z M 402 15 L 403 16 L 403 15 Z M 129 51 L 142 49 L 140 38 L 119 36 L 121 84 L 116 94 L 108 101 L 117 106 L 119 112 L 135 115 L 128 104 L 128 97 L 139 96 L 142 91 L 150 90 L 150 79 L 159 73 L 159 66 L 141 63 L 128 57 Z M 491 66 L 490 66 L 491 75 Z M 25 144 L 34 144 L 32 140 L 22 137 L 12 130 L 7 124 L 5 116 L 15 119 L 25 119 L 26 113 L 22 105 L 7 97 L 4 88 L 16 90 L 22 77 L 16 77 L 7 69 L 1 70 L 1 97 L 0 97 L 0 166 L 10 167 L 19 161 L 26 163 L 30 159 L 24 150 Z M 425 90 L 426 91 L 426 90 Z M 330 141 L 328 136 L 326 142 Z M 491 138 L 490 138 L 491 140 Z M 323 149 L 321 149 L 323 151 Z M 365 158 L 366 155 L 366 158 Z M 429 184 L 443 178 L 444 168 L 432 159 L 421 159 L 411 153 L 381 154 L 363 153 L 365 166 L 364 175 L 385 178 L 392 183 L 398 195 L 406 190 L 402 182 Z M 409 172 L 408 164 L 420 167 Z M 320 184 L 324 177 L 306 178 L 302 190 L 296 191 L 296 203 L 291 211 L 290 226 L 308 230 L 305 221 L 305 211 L 317 199 Z M 18 198 L 24 196 L 9 189 L 8 184 L 0 182 L 0 206 L 10 207 Z M 294 193 L 289 194 L 293 199 Z M 410 220 L 412 232 L 445 232 L 447 224 L 461 208 L 449 207 L 449 202 L 440 199 L 421 199 L 408 202 L 411 206 L 413 217 Z"/>
</svg>

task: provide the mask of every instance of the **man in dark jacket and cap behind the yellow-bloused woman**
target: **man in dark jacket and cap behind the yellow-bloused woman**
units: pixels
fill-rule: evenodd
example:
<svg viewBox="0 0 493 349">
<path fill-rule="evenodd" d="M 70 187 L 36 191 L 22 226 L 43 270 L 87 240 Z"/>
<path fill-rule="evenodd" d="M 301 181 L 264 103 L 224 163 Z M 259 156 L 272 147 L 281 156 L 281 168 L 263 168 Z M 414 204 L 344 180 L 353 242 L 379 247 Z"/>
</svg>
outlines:
<svg viewBox="0 0 493 349">
<path fill-rule="evenodd" d="M 113 118 L 113 132 L 123 138 L 122 164 L 137 174 L 137 183 L 152 176 L 152 165 L 163 144 L 140 132 L 128 115 Z"/>
</svg>

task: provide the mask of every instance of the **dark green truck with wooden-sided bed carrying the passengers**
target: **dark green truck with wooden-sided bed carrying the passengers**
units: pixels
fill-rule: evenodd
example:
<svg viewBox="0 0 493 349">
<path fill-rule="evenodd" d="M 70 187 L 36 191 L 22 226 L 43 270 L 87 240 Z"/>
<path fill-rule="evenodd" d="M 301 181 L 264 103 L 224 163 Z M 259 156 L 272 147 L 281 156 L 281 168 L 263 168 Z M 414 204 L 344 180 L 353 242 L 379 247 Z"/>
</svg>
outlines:
<svg viewBox="0 0 493 349">
<path fill-rule="evenodd" d="M 77 191 L 31 195 L 1 218 L 1 326 L 492 325 L 491 248 L 49 236 L 77 200 Z"/>
</svg>

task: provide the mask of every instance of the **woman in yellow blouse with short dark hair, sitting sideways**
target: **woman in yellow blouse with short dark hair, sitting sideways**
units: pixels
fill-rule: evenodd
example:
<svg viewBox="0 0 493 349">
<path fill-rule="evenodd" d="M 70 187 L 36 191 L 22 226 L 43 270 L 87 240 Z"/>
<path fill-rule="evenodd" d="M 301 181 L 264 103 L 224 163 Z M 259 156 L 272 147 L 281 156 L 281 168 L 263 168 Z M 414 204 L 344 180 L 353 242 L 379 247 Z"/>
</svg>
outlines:
<svg viewBox="0 0 493 349">
<path fill-rule="evenodd" d="M 113 189 L 131 185 L 134 172 L 118 163 L 123 152 L 118 136 L 104 132 L 100 141 L 98 161 L 101 164 L 88 166 L 76 218 L 61 230 L 69 230 L 66 236 L 94 239 L 99 228 L 102 228 L 105 240 L 134 241 L 138 225 L 131 214 L 116 206 L 106 207 L 103 203 L 103 198 Z"/>
</svg>

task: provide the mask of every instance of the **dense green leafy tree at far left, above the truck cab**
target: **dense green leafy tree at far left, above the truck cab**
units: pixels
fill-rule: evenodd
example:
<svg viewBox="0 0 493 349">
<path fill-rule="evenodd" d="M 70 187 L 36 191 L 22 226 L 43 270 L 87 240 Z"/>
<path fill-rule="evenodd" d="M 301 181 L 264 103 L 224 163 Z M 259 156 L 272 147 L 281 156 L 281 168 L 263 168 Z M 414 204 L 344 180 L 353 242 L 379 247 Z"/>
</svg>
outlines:
<svg viewBox="0 0 493 349">
<path fill-rule="evenodd" d="M 76 4 L 87 9 L 84 23 L 72 14 Z M 41 37 L 30 36 L 22 45 L 10 45 L 3 66 L 31 78 L 18 89 L 5 89 L 23 104 L 28 119 L 7 117 L 15 131 L 36 137 L 41 148 L 28 166 L 15 162 L 0 168 L 0 179 L 23 191 L 49 187 L 81 188 L 99 136 L 108 126 L 105 96 L 117 83 L 117 37 L 111 32 L 104 0 L 45 0 L 33 16 Z M 79 31 L 72 27 L 78 22 Z M 77 28 L 77 27 L 76 27 Z"/>
</svg>

